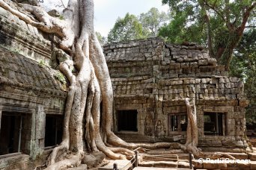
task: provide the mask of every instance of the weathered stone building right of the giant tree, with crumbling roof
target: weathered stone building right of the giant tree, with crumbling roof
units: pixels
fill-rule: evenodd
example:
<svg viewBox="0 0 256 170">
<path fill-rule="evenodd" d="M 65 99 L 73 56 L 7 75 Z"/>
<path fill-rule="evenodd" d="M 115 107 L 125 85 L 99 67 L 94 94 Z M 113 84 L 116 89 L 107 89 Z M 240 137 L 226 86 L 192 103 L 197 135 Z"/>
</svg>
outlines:
<svg viewBox="0 0 256 170">
<path fill-rule="evenodd" d="M 106 45 L 104 53 L 115 92 L 114 130 L 123 139 L 185 142 L 184 98 L 195 98 L 200 147 L 246 146 L 243 82 L 229 77 L 200 45 L 152 38 Z M 137 122 L 137 129 L 119 127 L 122 114 L 134 110 L 136 120 L 127 121 Z"/>
</svg>

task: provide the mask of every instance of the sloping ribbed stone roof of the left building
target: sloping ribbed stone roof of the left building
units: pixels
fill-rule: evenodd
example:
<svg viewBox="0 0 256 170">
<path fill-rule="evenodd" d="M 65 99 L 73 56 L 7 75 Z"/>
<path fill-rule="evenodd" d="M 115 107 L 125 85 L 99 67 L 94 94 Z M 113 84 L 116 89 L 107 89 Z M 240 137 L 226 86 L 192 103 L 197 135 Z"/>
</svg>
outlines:
<svg viewBox="0 0 256 170">
<path fill-rule="evenodd" d="M 0 84 L 32 90 L 35 95 L 66 98 L 58 72 L 21 54 L 0 47 Z"/>
</svg>

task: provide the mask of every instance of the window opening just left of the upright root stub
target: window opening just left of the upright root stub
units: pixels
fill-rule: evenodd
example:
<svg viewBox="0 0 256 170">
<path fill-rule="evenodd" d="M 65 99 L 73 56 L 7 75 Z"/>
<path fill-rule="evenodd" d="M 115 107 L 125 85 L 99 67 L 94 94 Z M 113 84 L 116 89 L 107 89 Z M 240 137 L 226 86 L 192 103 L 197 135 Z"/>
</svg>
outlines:
<svg viewBox="0 0 256 170">
<path fill-rule="evenodd" d="M 187 119 L 186 113 L 184 113 L 184 114 L 170 114 L 168 116 L 169 132 L 186 131 L 187 126 L 188 126 L 188 119 Z"/>
</svg>

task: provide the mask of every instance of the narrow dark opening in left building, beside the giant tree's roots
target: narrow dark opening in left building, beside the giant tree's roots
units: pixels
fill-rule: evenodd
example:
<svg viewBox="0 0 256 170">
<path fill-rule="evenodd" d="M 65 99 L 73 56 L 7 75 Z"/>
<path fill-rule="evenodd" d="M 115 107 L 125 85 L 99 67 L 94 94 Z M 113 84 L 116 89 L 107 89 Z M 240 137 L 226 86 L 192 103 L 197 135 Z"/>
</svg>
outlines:
<svg viewBox="0 0 256 170">
<path fill-rule="evenodd" d="M 62 116 L 46 115 L 46 131 L 44 146 L 53 146 L 61 143 L 63 119 Z"/>
</svg>

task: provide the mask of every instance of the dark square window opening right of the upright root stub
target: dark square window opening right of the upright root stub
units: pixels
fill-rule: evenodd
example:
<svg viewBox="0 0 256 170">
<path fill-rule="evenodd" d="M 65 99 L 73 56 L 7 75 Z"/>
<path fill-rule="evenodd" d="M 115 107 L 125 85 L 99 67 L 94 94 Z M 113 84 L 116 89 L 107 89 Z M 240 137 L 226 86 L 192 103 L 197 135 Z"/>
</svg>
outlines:
<svg viewBox="0 0 256 170">
<path fill-rule="evenodd" d="M 225 135 L 225 113 L 204 113 L 204 135 Z"/>
</svg>

